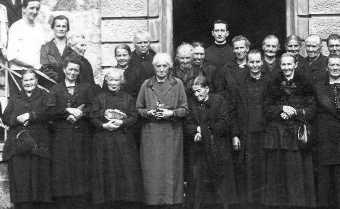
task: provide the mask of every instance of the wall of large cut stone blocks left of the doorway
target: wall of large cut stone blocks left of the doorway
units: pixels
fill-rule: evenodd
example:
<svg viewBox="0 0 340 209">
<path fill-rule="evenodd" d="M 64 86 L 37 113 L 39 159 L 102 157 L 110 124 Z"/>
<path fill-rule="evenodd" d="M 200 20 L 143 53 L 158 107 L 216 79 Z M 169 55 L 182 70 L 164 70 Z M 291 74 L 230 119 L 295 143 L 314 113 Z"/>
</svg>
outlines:
<svg viewBox="0 0 340 209">
<path fill-rule="evenodd" d="M 147 30 L 151 48 L 159 52 L 160 0 L 101 0 L 101 66 L 115 66 L 114 47 L 132 44 L 136 30 Z"/>
</svg>

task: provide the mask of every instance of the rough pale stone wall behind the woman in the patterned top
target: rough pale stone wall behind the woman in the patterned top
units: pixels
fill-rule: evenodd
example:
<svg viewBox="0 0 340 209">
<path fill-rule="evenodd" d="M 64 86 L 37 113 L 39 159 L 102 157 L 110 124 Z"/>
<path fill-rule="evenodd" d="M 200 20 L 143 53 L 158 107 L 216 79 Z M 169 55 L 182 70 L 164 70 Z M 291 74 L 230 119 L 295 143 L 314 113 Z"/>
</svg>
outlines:
<svg viewBox="0 0 340 209">
<path fill-rule="evenodd" d="M 65 15 L 69 19 L 69 34 L 85 36 L 85 58 L 92 65 L 95 82 L 100 83 L 100 0 L 42 0 L 36 20 L 43 24 L 46 41 L 54 36 L 50 24 L 57 15 Z"/>
</svg>

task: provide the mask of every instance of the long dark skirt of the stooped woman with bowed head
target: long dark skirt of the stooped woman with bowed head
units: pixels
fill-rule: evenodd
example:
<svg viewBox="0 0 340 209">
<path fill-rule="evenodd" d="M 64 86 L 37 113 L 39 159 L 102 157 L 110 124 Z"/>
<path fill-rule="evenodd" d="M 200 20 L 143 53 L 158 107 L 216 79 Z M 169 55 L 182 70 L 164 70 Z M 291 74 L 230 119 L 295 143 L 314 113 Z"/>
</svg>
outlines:
<svg viewBox="0 0 340 209">
<path fill-rule="evenodd" d="M 228 208 L 228 205 L 236 203 L 232 159 L 231 157 L 226 159 L 223 175 L 214 175 L 203 160 L 201 145 L 197 144 L 191 145 L 189 152 L 186 205 L 195 209 L 212 206 Z M 226 146 L 225 149 L 231 155 L 229 146 Z"/>
</svg>

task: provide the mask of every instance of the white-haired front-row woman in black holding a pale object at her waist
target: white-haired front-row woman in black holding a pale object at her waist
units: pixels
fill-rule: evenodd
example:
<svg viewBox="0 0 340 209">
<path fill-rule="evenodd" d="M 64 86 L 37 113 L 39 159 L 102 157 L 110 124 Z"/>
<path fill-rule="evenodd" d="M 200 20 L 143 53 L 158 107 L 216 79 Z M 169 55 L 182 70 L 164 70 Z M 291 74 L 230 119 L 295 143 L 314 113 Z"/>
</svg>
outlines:
<svg viewBox="0 0 340 209">
<path fill-rule="evenodd" d="M 108 89 L 92 100 L 92 200 L 99 208 L 136 208 L 144 201 L 141 171 L 131 133 L 135 99 L 126 93 L 123 70 L 107 69 Z"/>
</svg>

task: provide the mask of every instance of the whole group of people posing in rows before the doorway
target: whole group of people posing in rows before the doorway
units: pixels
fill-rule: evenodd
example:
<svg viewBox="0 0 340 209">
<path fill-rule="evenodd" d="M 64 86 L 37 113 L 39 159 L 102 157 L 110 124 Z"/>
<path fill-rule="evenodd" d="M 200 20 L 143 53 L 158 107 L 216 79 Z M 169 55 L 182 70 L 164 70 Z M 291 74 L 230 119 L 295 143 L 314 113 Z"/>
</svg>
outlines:
<svg viewBox="0 0 340 209">
<path fill-rule="evenodd" d="M 45 42 L 40 0 L 11 3 L 0 124 L 14 209 L 340 208 L 340 35 L 328 56 L 315 33 L 253 48 L 216 19 L 212 45 L 172 55 L 135 28 L 98 84 L 86 34 L 57 15 Z"/>
</svg>

